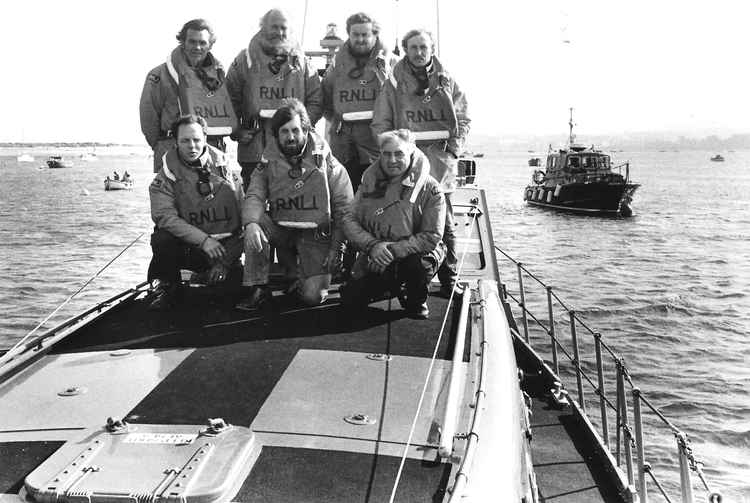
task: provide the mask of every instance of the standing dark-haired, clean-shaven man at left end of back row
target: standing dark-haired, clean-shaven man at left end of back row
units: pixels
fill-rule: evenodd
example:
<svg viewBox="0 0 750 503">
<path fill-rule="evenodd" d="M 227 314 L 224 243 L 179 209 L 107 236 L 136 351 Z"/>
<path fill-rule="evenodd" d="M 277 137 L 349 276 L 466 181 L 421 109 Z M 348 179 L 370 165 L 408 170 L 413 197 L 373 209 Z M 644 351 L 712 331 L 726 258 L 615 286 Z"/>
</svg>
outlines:
<svg viewBox="0 0 750 503">
<path fill-rule="evenodd" d="M 185 23 L 177 34 L 179 45 L 146 76 L 141 93 L 141 131 L 154 151 L 154 173 L 164 153 L 175 144 L 171 125 L 195 114 L 208 123 L 208 143 L 225 151 L 224 137 L 237 127 L 237 117 L 225 86 L 224 68 L 210 52 L 216 41 L 205 19 Z"/>
</svg>

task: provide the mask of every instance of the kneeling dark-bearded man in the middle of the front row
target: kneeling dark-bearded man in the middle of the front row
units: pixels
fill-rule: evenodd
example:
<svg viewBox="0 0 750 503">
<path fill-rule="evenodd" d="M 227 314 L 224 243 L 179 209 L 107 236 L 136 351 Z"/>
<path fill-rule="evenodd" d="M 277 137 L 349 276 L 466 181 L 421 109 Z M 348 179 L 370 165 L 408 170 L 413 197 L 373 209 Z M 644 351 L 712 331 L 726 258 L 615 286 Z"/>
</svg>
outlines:
<svg viewBox="0 0 750 503">
<path fill-rule="evenodd" d="M 250 178 L 242 207 L 245 228 L 243 285 L 251 287 L 238 309 L 271 307 L 269 243 L 308 305 L 323 302 L 343 254 L 342 225 L 349 217 L 352 185 L 328 143 L 312 130 L 301 101 L 290 98 L 270 120 L 263 163 Z M 266 213 L 266 208 L 269 208 Z"/>
</svg>

